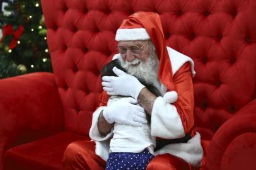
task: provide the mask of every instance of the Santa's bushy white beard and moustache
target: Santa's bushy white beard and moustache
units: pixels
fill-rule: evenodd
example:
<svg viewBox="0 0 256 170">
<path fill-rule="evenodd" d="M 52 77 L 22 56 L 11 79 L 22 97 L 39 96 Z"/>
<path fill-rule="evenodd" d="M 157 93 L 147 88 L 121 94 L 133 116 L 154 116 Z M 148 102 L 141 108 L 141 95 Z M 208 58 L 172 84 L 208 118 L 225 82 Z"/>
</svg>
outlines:
<svg viewBox="0 0 256 170">
<path fill-rule="evenodd" d="M 145 81 L 148 84 L 153 85 L 156 89 L 158 89 L 158 91 L 161 91 L 160 81 L 158 79 L 159 60 L 156 52 L 151 52 L 148 60 L 144 62 L 137 58 L 132 60 L 132 62 L 124 61 L 122 57 L 119 57 L 118 59 L 122 67 L 127 70 L 128 74 L 136 76 L 139 80 Z M 139 65 L 132 66 L 134 64 Z"/>
</svg>

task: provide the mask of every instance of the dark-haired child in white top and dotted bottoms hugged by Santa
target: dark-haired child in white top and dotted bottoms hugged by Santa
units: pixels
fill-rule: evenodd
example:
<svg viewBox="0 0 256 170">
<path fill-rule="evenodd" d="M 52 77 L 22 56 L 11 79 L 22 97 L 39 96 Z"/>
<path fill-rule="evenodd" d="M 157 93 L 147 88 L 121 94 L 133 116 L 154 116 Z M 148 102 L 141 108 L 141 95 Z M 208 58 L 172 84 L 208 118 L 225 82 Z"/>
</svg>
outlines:
<svg viewBox="0 0 256 170">
<path fill-rule="evenodd" d="M 113 67 L 127 72 L 118 59 L 112 60 L 105 65 L 101 71 L 103 76 L 116 76 L 112 71 Z M 160 92 L 151 84 L 139 80 L 146 88 L 156 96 L 160 96 Z M 107 105 L 113 102 L 127 98 L 129 96 L 110 96 Z M 155 139 L 151 136 L 150 116 L 147 115 L 147 124 L 141 127 L 124 125 L 115 123 L 113 127 L 113 137 L 110 140 L 110 154 L 107 160 L 106 169 L 115 167 L 116 164 L 122 164 L 124 169 L 146 169 L 149 161 L 154 157 Z M 119 165 L 120 167 L 120 165 Z"/>
</svg>

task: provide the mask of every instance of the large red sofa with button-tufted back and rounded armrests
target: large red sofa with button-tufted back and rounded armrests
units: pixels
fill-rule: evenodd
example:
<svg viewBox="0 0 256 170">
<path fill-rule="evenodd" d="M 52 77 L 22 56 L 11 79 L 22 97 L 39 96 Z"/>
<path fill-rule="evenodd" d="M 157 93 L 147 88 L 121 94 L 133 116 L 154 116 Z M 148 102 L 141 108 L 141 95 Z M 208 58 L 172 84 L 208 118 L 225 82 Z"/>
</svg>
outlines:
<svg viewBox="0 0 256 170">
<path fill-rule="evenodd" d="M 100 69 L 129 14 L 160 14 L 168 46 L 195 62 L 201 169 L 255 169 L 256 1 L 42 0 L 54 74 L 0 80 L 0 170 L 62 169 L 67 145 L 90 140 Z"/>
</svg>

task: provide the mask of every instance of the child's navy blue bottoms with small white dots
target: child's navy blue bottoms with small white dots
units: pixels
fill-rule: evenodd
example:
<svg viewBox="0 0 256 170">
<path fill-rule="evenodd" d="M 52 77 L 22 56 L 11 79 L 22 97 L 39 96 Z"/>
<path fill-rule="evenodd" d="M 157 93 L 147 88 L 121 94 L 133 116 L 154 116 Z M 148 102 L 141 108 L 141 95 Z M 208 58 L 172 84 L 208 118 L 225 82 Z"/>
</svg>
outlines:
<svg viewBox="0 0 256 170">
<path fill-rule="evenodd" d="M 140 153 L 111 152 L 108 156 L 106 170 L 146 169 L 153 157 L 148 149 Z"/>
</svg>

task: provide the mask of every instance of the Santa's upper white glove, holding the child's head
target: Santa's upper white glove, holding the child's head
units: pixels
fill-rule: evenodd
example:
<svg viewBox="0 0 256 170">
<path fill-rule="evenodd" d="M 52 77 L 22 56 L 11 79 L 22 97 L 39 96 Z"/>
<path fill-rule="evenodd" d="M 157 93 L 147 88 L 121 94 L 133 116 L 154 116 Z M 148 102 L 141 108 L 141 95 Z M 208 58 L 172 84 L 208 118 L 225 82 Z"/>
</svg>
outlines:
<svg viewBox="0 0 256 170">
<path fill-rule="evenodd" d="M 131 96 L 137 99 L 141 89 L 145 86 L 141 84 L 136 77 L 117 69 L 117 67 L 113 67 L 113 72 L 117 74 L 118 77 L 102 77 L 103 90 L 107 91 L 109 95 Z"/>
</svg>

